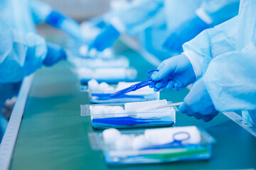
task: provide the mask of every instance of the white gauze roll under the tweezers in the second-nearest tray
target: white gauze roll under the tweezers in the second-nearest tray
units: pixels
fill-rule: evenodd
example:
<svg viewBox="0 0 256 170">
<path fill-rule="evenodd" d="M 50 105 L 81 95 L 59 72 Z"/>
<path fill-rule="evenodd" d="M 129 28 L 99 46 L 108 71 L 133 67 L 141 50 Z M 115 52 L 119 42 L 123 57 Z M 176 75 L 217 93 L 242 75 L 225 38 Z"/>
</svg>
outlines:
<svg viewBox="0 0 256 170">
<path fill-rule="evenodd" d="M 136 112 L 137 110 L 142 109 L 142 108 L 149 108 L 152 106 L 163 106 L 166 104 L 167 104 L 166 100 L 125 103 L 124 109 L 127 112 Z M 170 111 L 170 109 L 171 108 L 161 108 L 161 109 L 158 109 L 157 111 L 158 112 L 159 111 Z"/>
</svg>

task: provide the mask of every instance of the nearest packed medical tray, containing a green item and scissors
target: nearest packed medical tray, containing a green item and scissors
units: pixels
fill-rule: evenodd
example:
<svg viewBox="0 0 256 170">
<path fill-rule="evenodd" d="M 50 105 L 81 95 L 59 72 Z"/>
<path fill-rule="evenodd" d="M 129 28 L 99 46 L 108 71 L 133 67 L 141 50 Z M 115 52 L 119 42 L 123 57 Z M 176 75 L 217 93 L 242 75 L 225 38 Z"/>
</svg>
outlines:
<svg viewBox="0 0 256 170">
<path fill-rule="evenodd" d="M 102 150 L 110 166 L 210 159 L 215 142 L 208 132 L 196 126 L 147 130 L 110 128 L 88 135 L 92 149 Z"/>
</svg>

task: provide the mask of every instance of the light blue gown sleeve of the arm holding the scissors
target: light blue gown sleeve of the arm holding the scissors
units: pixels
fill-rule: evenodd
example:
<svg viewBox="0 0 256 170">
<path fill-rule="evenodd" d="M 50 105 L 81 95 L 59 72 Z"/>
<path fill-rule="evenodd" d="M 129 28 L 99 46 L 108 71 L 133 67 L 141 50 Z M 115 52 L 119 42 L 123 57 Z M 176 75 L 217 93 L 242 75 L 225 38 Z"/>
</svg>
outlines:
<svg viewBox="0 0 256 170">
<path fill-rule="evenodd" d="M 183 45 L 184 54 L 190 60 L 197 79 L 206 72 L 213 58 L 235 50 L 237 21 L 238 16 L 235 16 L 215 28 L 203 30 Z"/>
</svg>

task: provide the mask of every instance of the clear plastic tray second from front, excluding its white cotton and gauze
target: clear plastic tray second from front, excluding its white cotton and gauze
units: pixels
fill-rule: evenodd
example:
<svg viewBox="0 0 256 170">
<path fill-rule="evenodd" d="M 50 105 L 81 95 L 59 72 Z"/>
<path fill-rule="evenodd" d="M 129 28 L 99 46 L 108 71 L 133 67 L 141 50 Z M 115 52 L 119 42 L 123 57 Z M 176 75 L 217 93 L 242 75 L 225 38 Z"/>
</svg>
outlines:
<svg viewBox="0 0 256 170">
<path fill-rule="evenodd" d="M 168 102 L 171 103 L 171 102 Z M 95 106 L 119 106 L 124 108 L 124 103 L 112 104 L 92 104 L 81 105 L 81 115 L 90 115 L 92 128 L 147 128 L 171 126 L 175 124 L 176 111 L 171 108 L 170 111 L 144 111 L 144 112 L 124 112 L 124 113 L 92 113 Z"/>
</svg>

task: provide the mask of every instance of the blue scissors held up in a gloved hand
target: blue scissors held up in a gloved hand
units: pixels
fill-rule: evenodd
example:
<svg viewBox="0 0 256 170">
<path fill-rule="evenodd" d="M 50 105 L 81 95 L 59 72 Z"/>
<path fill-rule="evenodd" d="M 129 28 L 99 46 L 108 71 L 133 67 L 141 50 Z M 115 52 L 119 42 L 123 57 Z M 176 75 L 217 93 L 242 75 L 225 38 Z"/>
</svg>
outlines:
<svg viewBox="0 0 256 170">
<path fill-rule="evenodd" d="M 149 85 L 153 86 L 155 89 L 158 89 L 158 90 L 163 89 L 164 87 L 166 87 L 167 84 L 168 84 L 168 81 L 166 81 L 165 79 L 161 79 L 159 81 L 153 81 L 152 78 L 150 77 L 150 74 L 152 72 L 159 72 L 159 70 L 158 69 L 153 69 L 153 70 L 147 72 L 146 73 L 146 77 L 148 78 L 147 80 L 139 82 L 138 84 L 134 84 L 132 86 L 129 86 L 126 89 L 122 89 L 120 91 L 117 91 L 114 94 L 110 95 L 110 97 L 115 97 L 115 96 L 120 96 L 120 95 L 123 95 L 123 94 L 127 94 L 128 92 L 136 91 L 137 89 L 141 89 L 142 87 L 149 86 Z M 159 83 L 159 82 L 162 82 L 163 85 L 160 86 L 160 87 L 156 87 L 156 84 Z"/>
</svg>

